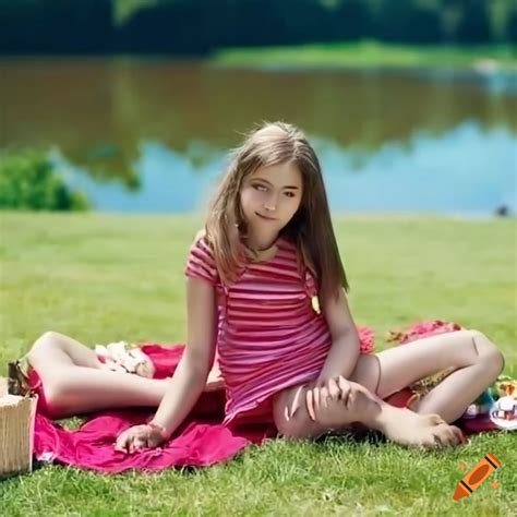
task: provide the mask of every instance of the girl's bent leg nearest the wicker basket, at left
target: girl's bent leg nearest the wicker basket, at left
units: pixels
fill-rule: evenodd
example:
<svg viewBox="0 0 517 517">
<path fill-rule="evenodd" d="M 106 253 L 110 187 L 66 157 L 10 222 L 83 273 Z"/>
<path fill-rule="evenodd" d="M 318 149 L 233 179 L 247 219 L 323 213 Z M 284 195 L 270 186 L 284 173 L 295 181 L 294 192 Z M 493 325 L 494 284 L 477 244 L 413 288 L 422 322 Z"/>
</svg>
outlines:
<svg viewBox="0 0 517 517">
<path fill-rule="evenodd" d="M 101 409 L 158 407 L 169 381 L 105 370 L 94 350 L 57 332 L 47 332 L 35 341 L 28 362 L 38 372 L 56 417 Z M 211 390 L 216 384 L 219 387 L 220 383 L 209 380 L 205 389 Z"/>
</svg>

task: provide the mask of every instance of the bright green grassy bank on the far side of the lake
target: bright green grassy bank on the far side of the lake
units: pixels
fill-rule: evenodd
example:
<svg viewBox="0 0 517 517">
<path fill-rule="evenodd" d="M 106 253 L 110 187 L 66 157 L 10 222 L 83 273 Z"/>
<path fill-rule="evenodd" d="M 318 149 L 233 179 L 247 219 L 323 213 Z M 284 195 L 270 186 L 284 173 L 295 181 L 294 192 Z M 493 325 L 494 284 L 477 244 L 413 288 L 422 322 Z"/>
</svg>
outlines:
<svg viewBox="0 0 517 517">
<path fill-rule="evenodd" d="M 512 45 L 390 45 L 380 41 L 308 44 L 292 47 L 228 48 L 215 53 L 213 62 L 250 67 L 322 68 L 472 68 L 482 60 L 495 60 L 517 70 Z"/>
</svg>

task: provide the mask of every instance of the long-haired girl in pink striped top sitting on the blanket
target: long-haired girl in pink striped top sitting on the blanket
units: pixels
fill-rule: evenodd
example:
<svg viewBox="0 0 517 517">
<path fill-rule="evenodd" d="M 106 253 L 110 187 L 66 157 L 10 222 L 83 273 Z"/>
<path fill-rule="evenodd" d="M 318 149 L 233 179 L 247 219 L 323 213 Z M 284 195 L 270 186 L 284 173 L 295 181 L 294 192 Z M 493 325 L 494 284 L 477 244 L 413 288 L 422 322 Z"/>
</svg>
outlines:
<svg viewBox="0 0 517 517">
<path fill-rule="evenodd" d="M 227 424 L 269 419 L 284 436 L 310 438 L 360 423 L 424 447 L 464 441 L 448 423 L 504 366 L 478 330 L 359 353 L 320 163 L 286 123 L 264 124 L 236 151 L 185 275 L 187 347 L 172 378 L 106 372 L 92 350 L 56 333 L 29 354 L 47 399 L 63 412 L 161 400 L 148 424 L 118 437 L 119 450 L 168 440 L 207 388 L 216 349 Z M 316 294 L 321 312 L 311 303 Z M 408 407 L 383 400 L 447 368 L 454 373 Z"/>
</svg>

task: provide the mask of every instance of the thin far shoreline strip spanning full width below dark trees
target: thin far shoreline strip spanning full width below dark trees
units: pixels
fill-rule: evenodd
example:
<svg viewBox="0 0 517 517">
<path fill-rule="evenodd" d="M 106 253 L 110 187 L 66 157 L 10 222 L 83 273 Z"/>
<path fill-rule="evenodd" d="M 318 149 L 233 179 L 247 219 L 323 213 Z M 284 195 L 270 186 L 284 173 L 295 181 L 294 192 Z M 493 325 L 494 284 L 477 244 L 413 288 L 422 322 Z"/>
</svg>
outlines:
<svg viewBox="0 0 517 517">
<path fill-rule="evenodd" d="M 279 71 L 347 70 L 354 72 L 462 71 L 481 75 L 517 73 L 517 45 L 397 45 L 375 40 L 314 43 L 278 47 L 229 47 L 208 56 L 170 53 L 5 53 L 4 61 L 136 61 L 143 63 L 205 64 L 211 68 Z"/>
</svg>

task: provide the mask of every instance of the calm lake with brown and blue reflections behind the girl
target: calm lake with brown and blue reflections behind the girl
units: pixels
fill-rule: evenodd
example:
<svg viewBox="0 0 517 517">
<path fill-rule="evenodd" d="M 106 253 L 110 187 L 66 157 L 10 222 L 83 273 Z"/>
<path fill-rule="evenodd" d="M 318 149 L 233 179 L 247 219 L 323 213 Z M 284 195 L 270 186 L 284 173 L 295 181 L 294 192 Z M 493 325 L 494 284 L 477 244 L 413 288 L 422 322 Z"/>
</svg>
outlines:
<svg viewBox="0 0 517 517">
<path fill-rule="evenodd" d="M 515 73 L 1 58 L 0 77 L 0 147 L 50 146 L 98 211 L 203 209 L 242 134 L 285 120 L 335 212 L 517 212 Z"/>
</svg>

